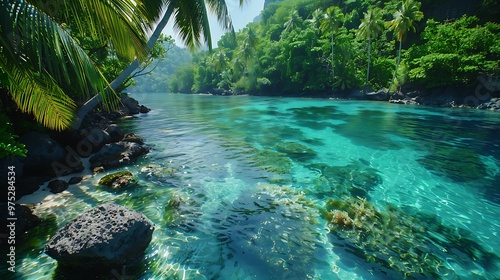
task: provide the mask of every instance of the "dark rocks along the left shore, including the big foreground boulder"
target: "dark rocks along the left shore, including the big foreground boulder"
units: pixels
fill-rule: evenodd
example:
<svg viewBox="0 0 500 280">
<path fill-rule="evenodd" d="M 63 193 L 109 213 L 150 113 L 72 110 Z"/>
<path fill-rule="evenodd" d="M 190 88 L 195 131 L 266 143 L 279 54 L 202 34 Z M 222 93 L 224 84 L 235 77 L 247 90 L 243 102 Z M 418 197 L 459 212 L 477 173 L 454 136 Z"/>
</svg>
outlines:
<svg viewBox="0 0 500 280">
<path fill-rule="evenodd" d="M 85 177 L 90 177 L 82 176 L 82 174 L 108 172 L 126 166 L 147 154 L 150 147 L 145 144 L 144 139 L 133 133 L 125 134 L 116 124 L 116 120 L 147 113 L 150 109 L 139 105 L 137 100 L 128 95 L 122 96 L 122 104 L 122 108 L 117 112 L 90 113 L 85 120 L 84 128 L 78 131 L 50 134 L 30 131 L 22 135 L 19 141 L 26 145 L 28 150 L 26 157 L 0 161 L 0 167 L 4 171 L 9 167 L 14 167 L 16 202 L 23 196 L 35 193 L 41 186 L 46 186 L 54 194 L 63 192 L 68 189 L 69 185 L 77 184 L 85 180 Z M 4 178 L 7 174 L 8 172 L 0 174 L 2 182 L 8 182 L 7 178 Z M 75 176 L 72 176 L 73 174 Z M 118 176 L 116 180 L 123 185 L 126 178 L 122 180 Z M 60 228 L 47 243 L 46 253 L 58 260 L 59 265 L 75 269 L 82 268 L 82 265 L 82 269 L 88 269 L 90 264 L 87 261 L 82 263 L 81 260 L 93 260 L 96 262 L 95 265 L 120 266 L 140 259 L 151 241 L 154 224 L 140 213 L 122 206 L 108 204 L 98 205 Z M 7 201 L 7 198 L 0 202 L 0 209 L 3 209 L 0 212 L 1 219 L 8 220 L 7 208 L 9 206 L 15 209 L 16 238 L 44 223 L 43 219 L 33 214 L 30 207 L 12 203 L 12 201 Z M 117 216 L 115 212 L 120 214 Z M 64 241 L 62 237 L 78 233 L 75 231 L 69 233 L 66 229 L 82 219 L 87 221 L 86 230 L 81 232 L 80 237 L 70 238 L 72 243 L 68 241 L 69 239 Z M 88 232 L 100 232 L 103 229 L 106 235 L 96 233 L 90 236 L 94 238 L 90 246 L 88 236 L 84 235 Z M 0 247 L 9 246 L 7 238 L 9 234 L 9 228 L 0 229 Z M 130 248 L 117 251 L 110 244 L 129 244 Z M 82 250 L 82 246 L 88 248 L 85 247 L 87 249 Z"/>
</svg>

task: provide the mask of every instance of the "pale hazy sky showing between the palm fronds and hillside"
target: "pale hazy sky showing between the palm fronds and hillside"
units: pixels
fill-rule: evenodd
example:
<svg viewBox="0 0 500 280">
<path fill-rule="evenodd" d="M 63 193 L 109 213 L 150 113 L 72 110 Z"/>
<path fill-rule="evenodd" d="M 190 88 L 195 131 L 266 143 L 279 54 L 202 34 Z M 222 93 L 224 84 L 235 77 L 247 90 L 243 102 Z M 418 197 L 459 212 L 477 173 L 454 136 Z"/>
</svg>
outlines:
<svg viewBox="0 0 500 280">
<path fill-rule="evenodd" d="M 262 8 L 264 7 L 264 0 L 247 0 L 245 2 L 246 3 L 240 7 L 239 0 L 226 0 L 235 31 L 242 29 L 245 25 L 247 25 L 247 23 L 253 21 L 253 19 L 260 14 L 260 11 L 262 11 Z M 216 48 L 217 41 L 219 41 L 224 32 L 220 29 L 219 24 L 214 17 L 210 18 L 210 31 L 212 33 L 212 47 Z M 183 46 L 180 39 L 177 38 L 172 22 L 167 24 L 163 33 L 172 35 L 177 45 Z"/>
</svg>

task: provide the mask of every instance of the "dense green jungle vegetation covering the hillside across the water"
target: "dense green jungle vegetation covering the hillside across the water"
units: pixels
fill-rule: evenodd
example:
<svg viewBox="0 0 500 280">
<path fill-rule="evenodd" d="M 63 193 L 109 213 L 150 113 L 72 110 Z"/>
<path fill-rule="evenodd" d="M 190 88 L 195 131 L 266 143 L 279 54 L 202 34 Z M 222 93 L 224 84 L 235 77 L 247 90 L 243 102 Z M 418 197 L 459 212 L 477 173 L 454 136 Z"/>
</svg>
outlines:
<svg viewBox="0 0 500 280">
<path fill-rule="evenodd" d="M 260 19 L 175 75 L 156 71 L 155 83 L 168 87 L 141 81 L 134 90 L 314 95 L 465 86 L 480 74 L 499 75 L 497 0 L 269 2 Z"/>
</svg>

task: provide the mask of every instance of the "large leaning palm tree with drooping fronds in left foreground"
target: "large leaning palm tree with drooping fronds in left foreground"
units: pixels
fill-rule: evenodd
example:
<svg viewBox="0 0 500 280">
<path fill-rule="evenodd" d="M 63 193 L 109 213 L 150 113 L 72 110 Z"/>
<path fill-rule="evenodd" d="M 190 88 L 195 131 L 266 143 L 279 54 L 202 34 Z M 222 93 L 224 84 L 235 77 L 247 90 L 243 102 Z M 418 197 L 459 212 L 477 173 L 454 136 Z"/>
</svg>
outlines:
<svg viewBox="0 0 500 280">
<path fill-rule="evenodd" d="M 202 41 L 210 46 L 207 7 L 222 27 L 232 30 L 222 0 L 2 1 L 0 72 L 7 82 L 0 86 L 7 88 L 23 112 L 33 114 L 48 128 L 63 130 L 72 123 L 79 127 L 81 118 L 73 122 L 74 100 L 99 93 L 94 99 L 103 101 L 108 109 L 117 107 L 119 99 L 113 89 L 146 58 L 172 14 L 174 26 L 188 46 L 200 46 Z M 148 41 L 147 34 L 164 11 Z M 110 41 L 119 57 L 134 61 L 132 71 L 126 69 L 130 73 L 110 85 L 64 28 L 65 22 L 74 23 L 93 39 Z"/>
</svg>

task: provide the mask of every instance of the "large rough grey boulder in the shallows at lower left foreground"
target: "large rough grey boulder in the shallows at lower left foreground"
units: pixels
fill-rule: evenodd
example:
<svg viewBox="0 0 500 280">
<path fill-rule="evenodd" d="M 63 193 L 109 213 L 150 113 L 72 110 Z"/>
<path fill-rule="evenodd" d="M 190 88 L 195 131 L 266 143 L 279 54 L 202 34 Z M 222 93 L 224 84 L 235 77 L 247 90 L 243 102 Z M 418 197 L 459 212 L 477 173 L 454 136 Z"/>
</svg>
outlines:
<svg viewBox="0 0 500 280">
<path fill-rule="evenodd" d="M 143 214 L 108 202 L 60 228 L 45 249 L 66 267 L 120 266 L 143 257 L 153 231 Z"/>
</svg>

